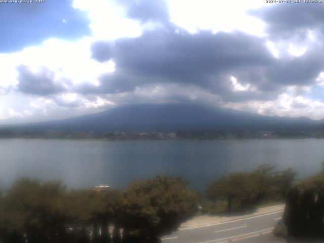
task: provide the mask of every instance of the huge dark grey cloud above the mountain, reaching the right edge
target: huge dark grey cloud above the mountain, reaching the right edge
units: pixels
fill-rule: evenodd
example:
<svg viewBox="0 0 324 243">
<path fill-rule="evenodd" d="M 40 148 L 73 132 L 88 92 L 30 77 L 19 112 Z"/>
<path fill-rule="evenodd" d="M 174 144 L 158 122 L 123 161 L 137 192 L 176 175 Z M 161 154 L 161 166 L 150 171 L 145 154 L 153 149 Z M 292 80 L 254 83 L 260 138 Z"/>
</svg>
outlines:
<svg viewBox="0 0 324 243">
<path fill-rule="evenodd" d="M 263 37 L 238 31 L 190 34 L 175 30 L 156 29 L 118 39 L 109 49 L 116 71 L 103 74 L 100 86 L 83 87 L 82 92 L 114 94 L 132 92 L 144 84 L 180 84 L 208 90 L 224 101 L 268 100 L 286 86 L 312 85 L 324 69 L 320 47 L 310 48 L 301 57 L 276 59 Z M 107 43 L 94 46 L 107 49 Z M 230 76 L 255 89 L 235 92 Z"/>
</svg>

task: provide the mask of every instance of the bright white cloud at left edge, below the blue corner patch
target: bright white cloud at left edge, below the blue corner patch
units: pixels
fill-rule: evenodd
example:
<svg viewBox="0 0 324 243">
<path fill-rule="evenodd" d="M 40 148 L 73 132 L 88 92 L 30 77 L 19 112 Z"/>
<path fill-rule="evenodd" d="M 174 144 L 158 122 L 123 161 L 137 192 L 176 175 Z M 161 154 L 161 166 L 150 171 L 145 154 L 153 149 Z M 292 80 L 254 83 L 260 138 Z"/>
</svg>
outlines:
<svg viewBox="0 0 324 243">
<path fill-rule="evenodd" d="M 3 68 L 0 74 L 1 85 L 8 87 L 18 83 L 16 68 L 21 64 L 30 67 L 33 72 L 39 72 L 46 67 L 54 72 L 55 80 L 66 79 L 73 84 L 90 82 L 98 85 L 97 77 L 104 72 L 113 72 L 114 63 L 100 63 L 91 59 L 90 47 L 93 41 L 91 37 L 84 37 L 77 42 L 50 38 L 42 46 L 0 54 L 0 65 Z"/>
</svg>

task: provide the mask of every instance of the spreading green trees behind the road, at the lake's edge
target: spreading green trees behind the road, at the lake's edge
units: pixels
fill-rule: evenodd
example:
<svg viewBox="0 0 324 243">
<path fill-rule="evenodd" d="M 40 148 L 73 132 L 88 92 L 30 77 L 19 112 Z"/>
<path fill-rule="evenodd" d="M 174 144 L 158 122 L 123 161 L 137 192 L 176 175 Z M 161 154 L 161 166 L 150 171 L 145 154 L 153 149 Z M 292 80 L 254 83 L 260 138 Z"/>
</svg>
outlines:
<svg viewBox="0 0 324 243">
<path fill-rule="evenodd" d="M 236 172 L 222 176 L 207 187 L 207 198 L 226 200 L 228 211 L 250 209 L 271 197 L 286 197 L 296 173 L 291 170 L 276 171 L 274 166 L 262 165 L 251 172 Z"/>
</svg>

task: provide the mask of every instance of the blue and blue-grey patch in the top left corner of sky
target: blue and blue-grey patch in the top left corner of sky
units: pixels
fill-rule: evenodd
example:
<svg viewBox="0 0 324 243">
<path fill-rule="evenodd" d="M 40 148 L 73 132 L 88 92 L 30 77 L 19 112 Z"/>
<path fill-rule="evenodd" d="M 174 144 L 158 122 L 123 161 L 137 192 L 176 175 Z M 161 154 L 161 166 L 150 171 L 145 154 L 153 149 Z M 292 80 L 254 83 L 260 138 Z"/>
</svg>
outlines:
<svg viewBox="0 0 324 243">
<path fill-rule="evenodd" d="M 73 9 L 71 1 L 2 4 L 0 21 L 6 23 L 0 28 L 2 53 L 39 45 L 50 37 L 76 39 L 91 33 L 86 13 Z"/>
</svg>

